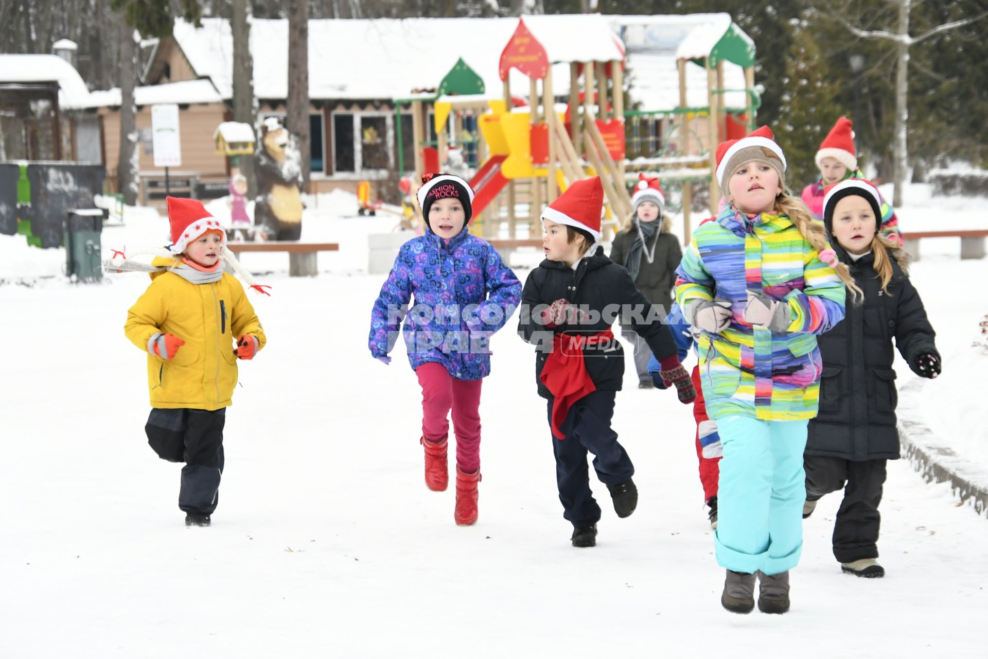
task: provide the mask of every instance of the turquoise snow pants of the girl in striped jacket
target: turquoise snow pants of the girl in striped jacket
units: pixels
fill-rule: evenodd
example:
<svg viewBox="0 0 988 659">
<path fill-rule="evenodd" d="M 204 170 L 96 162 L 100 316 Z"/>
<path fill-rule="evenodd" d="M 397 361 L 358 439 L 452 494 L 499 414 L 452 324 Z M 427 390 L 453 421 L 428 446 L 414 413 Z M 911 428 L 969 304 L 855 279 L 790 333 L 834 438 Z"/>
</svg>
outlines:
<svg viewBox="0 0 988 659">
<path fill-rule="evenodd" d="M 806 499 L 803 421 L 718 418 L 723 445 L 717 489 L 717 562 L 735 572 L 779 574 L 796 566 Z"/>
</svg>

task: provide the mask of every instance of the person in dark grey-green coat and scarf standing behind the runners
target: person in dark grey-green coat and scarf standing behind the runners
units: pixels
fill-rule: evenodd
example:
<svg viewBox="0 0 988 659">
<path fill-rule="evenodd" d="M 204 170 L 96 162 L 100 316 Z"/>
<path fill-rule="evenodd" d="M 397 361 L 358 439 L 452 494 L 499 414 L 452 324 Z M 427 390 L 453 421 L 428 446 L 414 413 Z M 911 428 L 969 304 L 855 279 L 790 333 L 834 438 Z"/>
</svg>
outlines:
<svg viewBox="0 0 988 659">
<path fill-rule="evenodd" d="M 662 307 L 665 317 L 672 309 L 676 269 L 683 259 L 683 250 L 679 239 L 670 233 L 672 217 L 665 213 L 666 198 L 659 180 L 645 174 L 639 174 L 638 179 L 631 197 L 634 212 L 611 244 L 611 260 L 627 270 L 635 288 L 652 304 Z M 652 388 L 652 376 L 648 373 L 652 354 L 645 340 L 631 328 L 628 318 L 621 319 L 621 336 L 634 346 L 638 388 Z"/>
</svg>

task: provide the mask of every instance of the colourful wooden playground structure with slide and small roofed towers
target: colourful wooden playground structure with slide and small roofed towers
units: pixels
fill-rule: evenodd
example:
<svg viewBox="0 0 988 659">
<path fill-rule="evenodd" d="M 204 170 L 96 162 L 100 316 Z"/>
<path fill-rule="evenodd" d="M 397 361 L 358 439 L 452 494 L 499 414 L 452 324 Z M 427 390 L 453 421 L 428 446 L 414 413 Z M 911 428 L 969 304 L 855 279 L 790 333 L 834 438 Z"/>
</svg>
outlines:
<svg viewBox="0 0 988 659">
<path fill-rule="evenodd" d="M 671 77 L 666 82 L 670 96 L 678 82 L 674 107 L 624 109 L 625 47 L 599 15 L 519 19 L 501 52 L 499 95 L 487 93 L 483 78 L 460 58 L 435 92 L 396 99 L 399 145 L 402 104 L 410 105 L 412 112 L 412 199 L 424 173 L 462 175 L 476 195 L 471 231 L 498 237 L 501 222 L 507 220 L 507 235 L 515 240 L 519 219 L 537 217 L 542 206 L 574 181 L 596 174 L 606 194 L 607 240 L 631 213 L 627 184 L 647 170 L 662 179 L 664 188 L 676 191 L 674 204 L 682 205 L 688 242 L 691 210 L 702 199 L 694 200 L 694 184 L 709 190 L 704 205 L 711 213 L 720 200 L 710 164 L 713 147 L 753 129 L 761 102 L 754 86 L 754 43 L 730 17 L 682 18 L 642 17 L 645 24 L 680 21 L 681 34 L 671 41 L 673 49 L 661 55 L 663 70 L 671 73 L 666 76 Z M 667 36 L 668 31 L 661 34 Z M 743 69 L 743 86 L 740 72 L 732 69 L 735 88 L 726 88 L 725 62 Z M 512 70 L 528 79 L 527 99 L 518 95 L 517 82 L 512 89 Z M 517 81 L 518 74 L 515 77 Z M 705 85 L 699 95 L 700 79 Z M 732 101 L 728 108 L 725 99 L 731 93 L 736 93 L 735 99 L 743 93 L 744 105 Z M 565 105 L 556 103 L 567 96 Z M 429 139 L 433 133 L 435 139 Z M 462 150 L 465 163 L 454 162 L 451 147 Z M 403 171 L 402 155 L 399 148 Z M 456 171 L 455 165 L 469 171 Z"/>
</svg>

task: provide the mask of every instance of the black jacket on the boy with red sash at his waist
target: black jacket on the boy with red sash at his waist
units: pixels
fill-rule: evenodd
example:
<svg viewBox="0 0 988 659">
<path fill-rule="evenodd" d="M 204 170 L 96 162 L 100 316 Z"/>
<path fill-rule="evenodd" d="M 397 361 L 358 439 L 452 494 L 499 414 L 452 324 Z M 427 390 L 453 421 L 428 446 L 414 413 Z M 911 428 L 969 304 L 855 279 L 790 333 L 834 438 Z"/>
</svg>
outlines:
<svg viewBox="0 0 988 659">
<path fill-rule="evenodd" d="M 590 312 L 594 322 L 562 324 L 554 329 L 542 325 L 539 322 L 541 312 L 560 298 Z M 538 385 L 538 395 L 543 398 L 550 398 L 552 395 L 541 383 L 539 375 L 552 347 L 554 333 L 599 334 L 611 329 L 617 313 L 635 307 L 640 315 L 631 314 L 638 317 L 634 318 L 635 321 L 630 326 L 648 343 L 656 359 L 676 355 L 676 340 L 669 328 L 661 322 L 665 314 L 660 309 L 653 309 L 652 303 L 634 288 L 634 282 L 627 271 L 602 252 L 598 251 L 590 258 L 581 259 L 575 271 L 560 261 L 542 261 L 525 281 L 518 321 L 519 335 L 536 347 L 535 382 Z M 584 351 L 584 363 L 599 391 L 620 390 L 624 377 L 624 351 L 619 341 L 616 340 L 610 346 L 589 347 Z"/>
</svg>

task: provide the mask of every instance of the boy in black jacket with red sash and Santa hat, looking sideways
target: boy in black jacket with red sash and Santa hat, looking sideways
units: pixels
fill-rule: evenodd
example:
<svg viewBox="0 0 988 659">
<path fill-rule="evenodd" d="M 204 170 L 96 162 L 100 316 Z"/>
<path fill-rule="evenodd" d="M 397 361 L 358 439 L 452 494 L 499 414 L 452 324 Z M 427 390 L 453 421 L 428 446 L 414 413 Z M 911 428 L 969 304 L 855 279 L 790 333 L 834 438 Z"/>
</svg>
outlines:
<svg viewBox="0 0 988 659">
<path fill-rule="evenodd" d="M 535 378 L 547 399 L 556 484 L 563 517 L 573 525 L 573 546 L 596 544 L 601 509 L 590 490 L 587 452 L 624 518 L 638 492 L 634 467 L 611 428 L 624 354 L 611 331 L 617 315 L 628 318 L 662 365 L 660 376 L 679 398 L 696 397 L 680 365 L 676 342 L 663 315 L 642 295 L 627 271 L 598 253 L 604 189 L 599 177 L 574 183 L 541 214 L 545 260 L 522 290 L 518 332 L 538 347 Z"/>
</svg>

